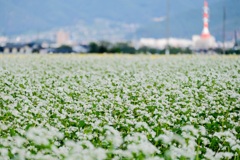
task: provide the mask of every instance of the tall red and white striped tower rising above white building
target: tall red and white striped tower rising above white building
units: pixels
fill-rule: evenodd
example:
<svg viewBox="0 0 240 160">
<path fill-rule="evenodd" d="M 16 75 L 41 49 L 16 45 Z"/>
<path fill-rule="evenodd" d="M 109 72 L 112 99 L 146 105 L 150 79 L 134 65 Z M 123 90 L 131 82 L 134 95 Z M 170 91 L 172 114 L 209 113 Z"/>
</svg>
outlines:
<svg viewBox="0 0 240 160">
<path fill-rule="evenodd" d="M 208 29 L 208 22 L 209 22 L 209 14 L 208 14 L 208 2 L 207 0 L 204 0 L 204 7 L 203 7 L 203 31 L 202 31 L 202 38 L 209 38 L 210 32 Z"/>
</svg>

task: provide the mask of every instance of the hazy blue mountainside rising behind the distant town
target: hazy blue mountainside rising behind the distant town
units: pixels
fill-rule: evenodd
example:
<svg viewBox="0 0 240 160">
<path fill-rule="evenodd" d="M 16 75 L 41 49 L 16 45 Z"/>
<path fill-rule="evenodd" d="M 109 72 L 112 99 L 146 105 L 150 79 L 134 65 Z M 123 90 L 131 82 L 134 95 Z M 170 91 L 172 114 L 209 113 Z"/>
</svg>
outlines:
<svg viewBox="0 0 240 160">
<path fill-rule="evenodd" d="M 228 3 L 227 3 L 228 2 Z M 210 31 L 221 37 L 222 1 L 209 1 Z M 227 31 L 240 28 L 239 0 L 225 0 Z M 171 0 L 171 35 L 190 38 L 202 29 L 203 1 Z M 140 28 L 133 37 L 165 37 L 165 21 L 153 18 L 166 16 L 166 0 L 0 0 L 0 35 L 35 33 L 52 28 L 75 25 L 79 21 L 93 23 L 102 18 L 115 22 L 136 23 Z M 94 28 L 93 28 L 94 29 Z"/>
</svg>

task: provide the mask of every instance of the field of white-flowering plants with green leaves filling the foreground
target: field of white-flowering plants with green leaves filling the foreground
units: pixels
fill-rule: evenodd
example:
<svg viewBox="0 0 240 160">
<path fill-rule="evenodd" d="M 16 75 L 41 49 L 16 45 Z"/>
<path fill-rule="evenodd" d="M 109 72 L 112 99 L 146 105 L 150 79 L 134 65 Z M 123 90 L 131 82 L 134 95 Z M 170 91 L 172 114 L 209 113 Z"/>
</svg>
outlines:
<svg viewBox="0 0 240 160">
<path fill-rule="evenodd" d="M 0 55 L 0 159 L 240 159 L 238 56 Z"/>
</svg>

